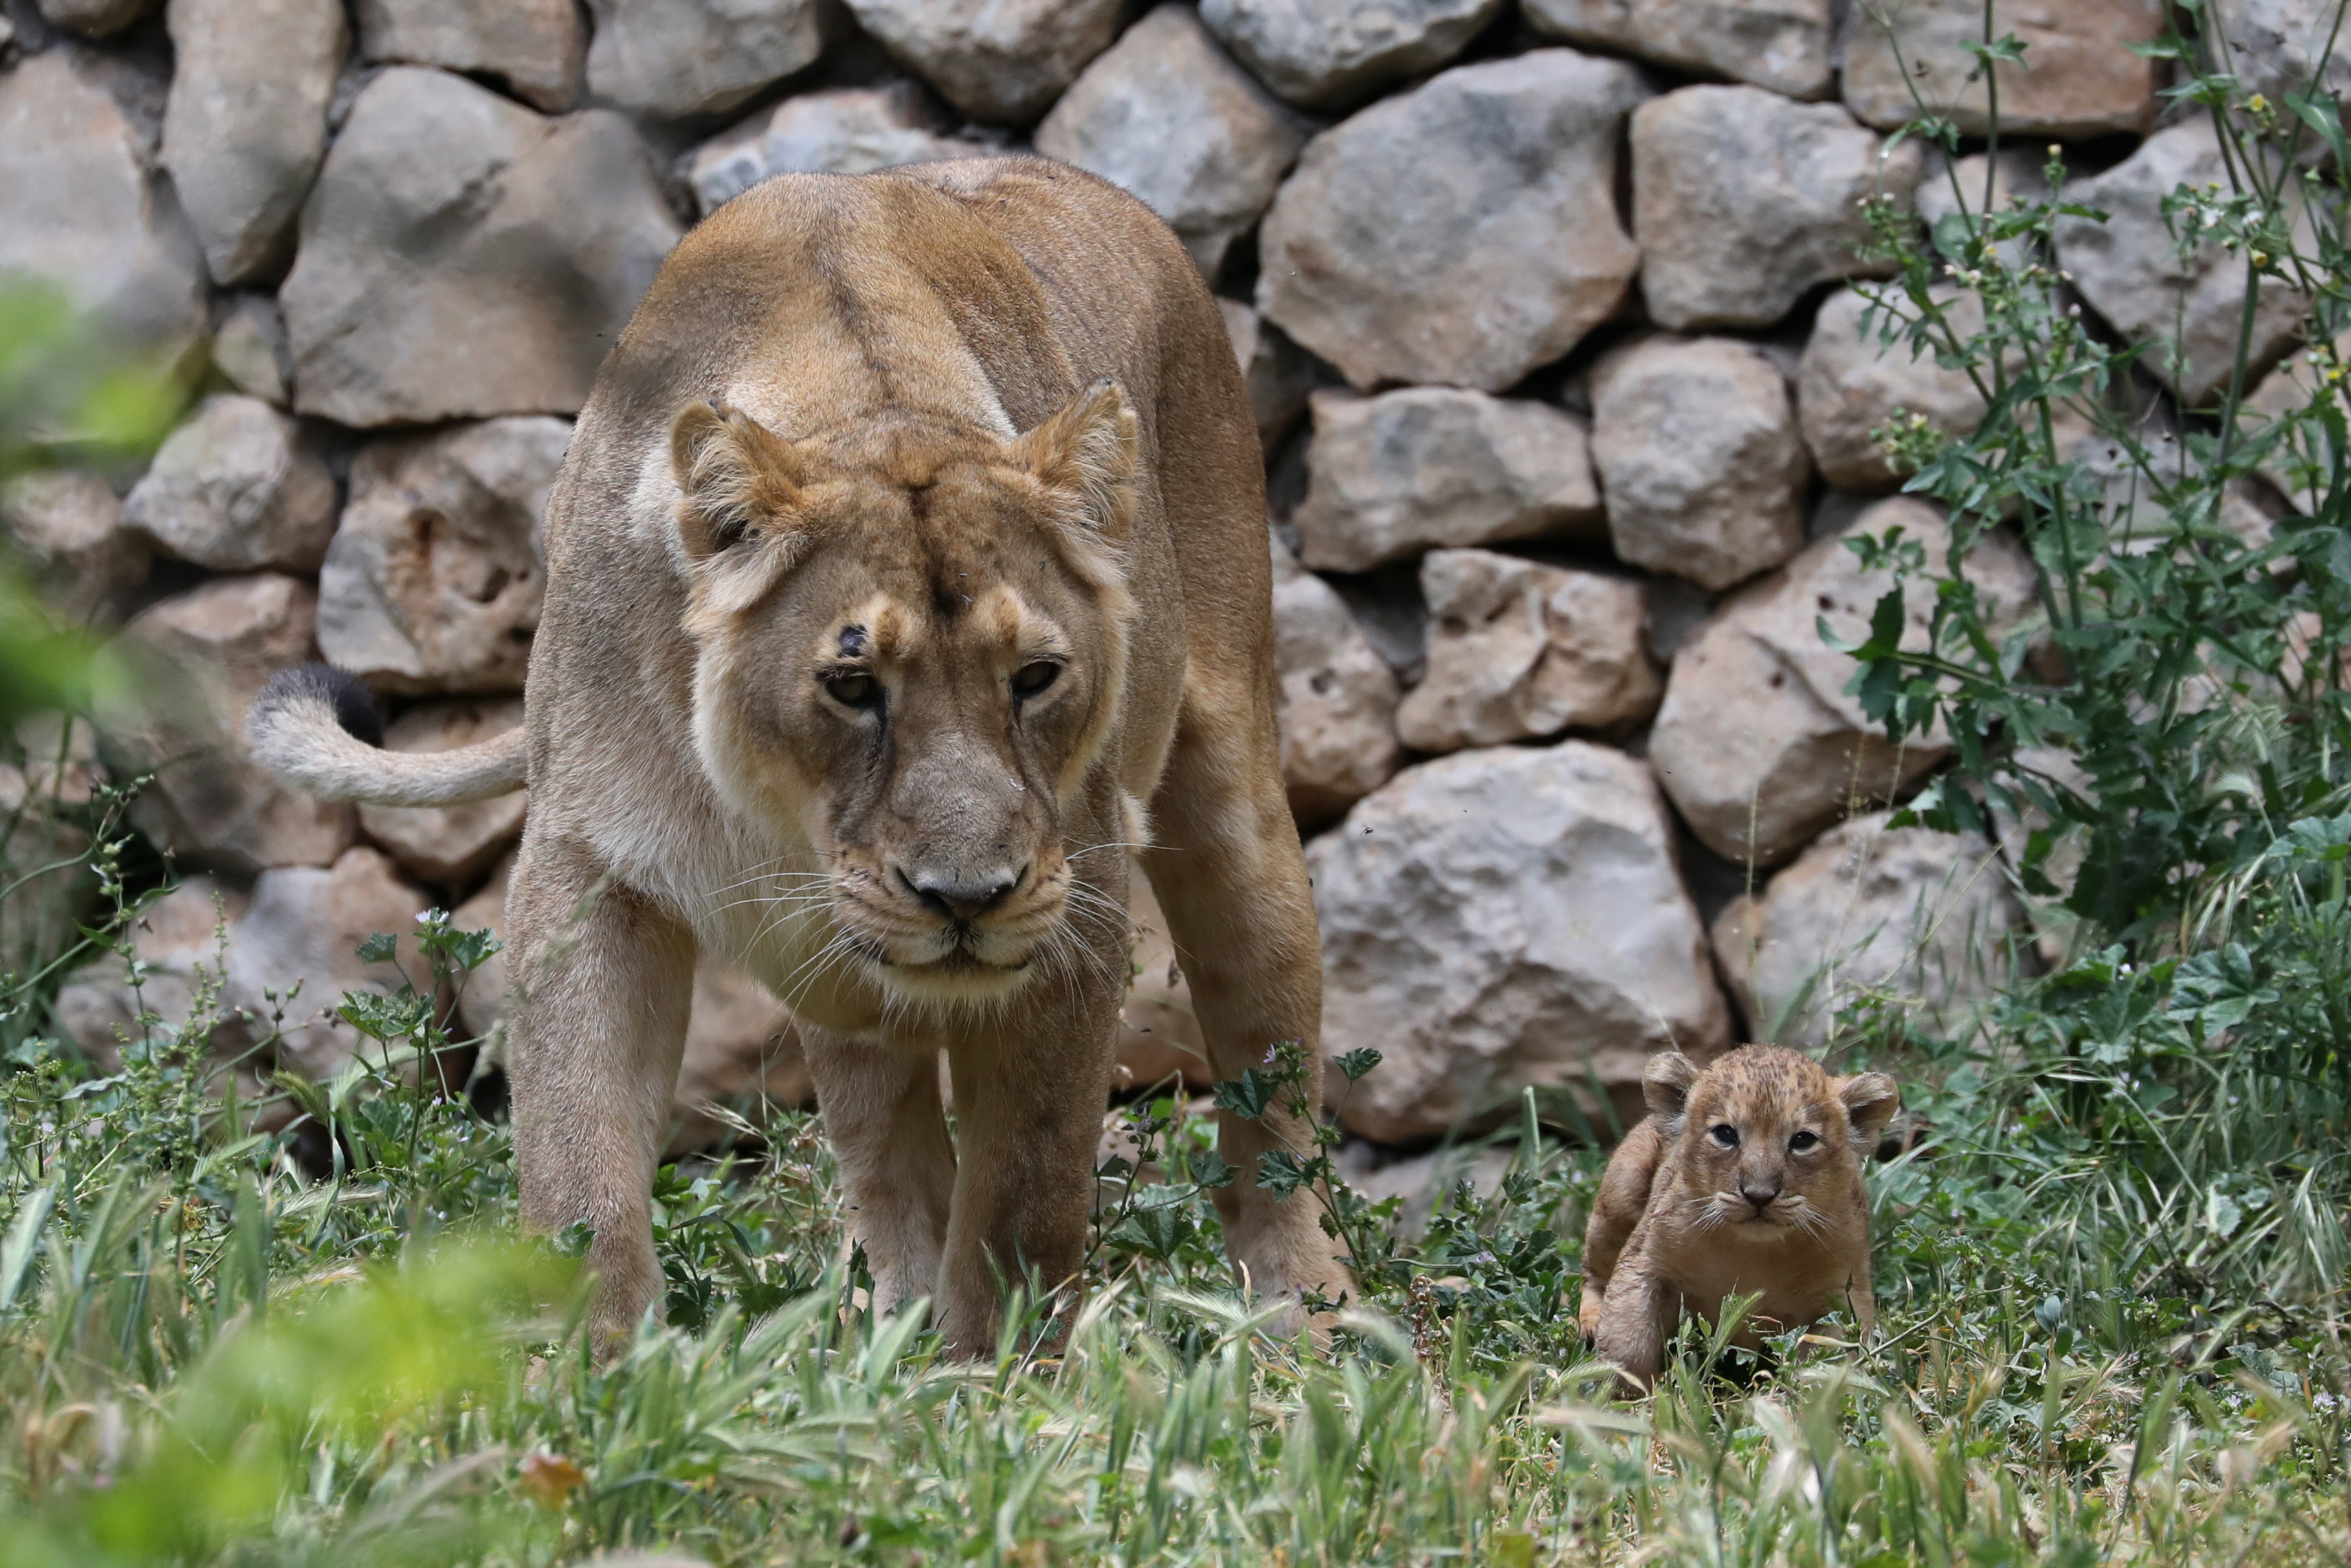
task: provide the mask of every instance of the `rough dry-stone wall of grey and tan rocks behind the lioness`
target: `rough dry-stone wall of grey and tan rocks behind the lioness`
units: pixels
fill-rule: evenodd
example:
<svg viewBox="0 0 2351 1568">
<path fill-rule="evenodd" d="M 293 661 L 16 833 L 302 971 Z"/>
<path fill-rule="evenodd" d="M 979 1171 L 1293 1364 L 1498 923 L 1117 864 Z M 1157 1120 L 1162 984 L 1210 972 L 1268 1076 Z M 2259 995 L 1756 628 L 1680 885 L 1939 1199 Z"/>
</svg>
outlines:
<svg viewBox="0 0 2351 1568">
<path fill-rule="evenodd" d="M 242 703 L 324 656 L 388 698 L 395 748 L 515 724 L 567 421 L 684 226 L 785 169 L 1039 150 L 1150 202 L 1225 306 L 1328 1044 L 1387 1056 L 1357 1133 L 1434 1138 L 1526 1084 L 1622 1095 L 1667 1041 L 1817 1041 L 1853 985 L 1965 1006 L 2024 912 L 1994 846 L 1886 830 L 1947 748 L 1874 736 L 1817 635 L 1883 588 L 1841 536 L 1944 538 L 1869 430 L 1982 416 L 1963 376 L 1862 339 L 1860 205 L 1933 216 L 1951 174 L 2027 188 L 2059 146 L 2114 221 L 2057 261 L 2118 339 L 2177 339 L 2146 364 L 2186 400 L 2224 371 L 2243 268 L 2161 228 L 2163 193 L 2219 169 L 2130 47 L 2158 0 L 2005 7 L 2029 155 L 1996 172 L 1888 139 L 1909 87 L 1982 129 L 1977 0 L 1907 0 L 1893 42 L 1862 9 L 7 0 L 0 270 L 212 360 L 125 494 L 47 475 L 0 505 L 56 602 L 148 656 L 106 755 L 162 769 L 139 823 L 207 879 L 143 945 L 186 976 L 219 910 L 230 999 L 303 976 L 315 1006 L 386 983 L 353 933 L 428 903 L 494 924 L 520 802 L 322 806 L 245 759 Z M 2224 0 L 2248 80 L 2306 78 L 2330 9 Z M 2292 303 L 2257 329 L 2278 357 Z M 2010 543 L 1975 571 L 2029 611 Z M 1154 1077 L 1190 1023 L 1138 900 Z M 94 1051 L 108 985 L 73 994 Z M 284 1051 L 331 1065 L 339 1027 L 306 1013 Z M 788 1020 L 712 971 L 689 1077 L 759 1072 L 804 1093 Z"/>
</svg>

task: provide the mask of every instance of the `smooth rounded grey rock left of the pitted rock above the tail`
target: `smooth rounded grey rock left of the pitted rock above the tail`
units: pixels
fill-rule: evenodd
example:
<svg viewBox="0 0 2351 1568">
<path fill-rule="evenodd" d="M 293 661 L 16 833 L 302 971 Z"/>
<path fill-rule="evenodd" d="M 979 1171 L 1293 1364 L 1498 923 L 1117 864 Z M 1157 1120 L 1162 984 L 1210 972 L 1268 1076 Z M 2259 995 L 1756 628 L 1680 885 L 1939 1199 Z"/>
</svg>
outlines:
<svg viewBox="0 0 2351 1568">
<path fill-rule="evenodd" d="M 289 414 L 214 393 L 155 451 L 122 520 L 212 571 L 315 571 L 334 538 L 334 475 Z"/>
</svg>

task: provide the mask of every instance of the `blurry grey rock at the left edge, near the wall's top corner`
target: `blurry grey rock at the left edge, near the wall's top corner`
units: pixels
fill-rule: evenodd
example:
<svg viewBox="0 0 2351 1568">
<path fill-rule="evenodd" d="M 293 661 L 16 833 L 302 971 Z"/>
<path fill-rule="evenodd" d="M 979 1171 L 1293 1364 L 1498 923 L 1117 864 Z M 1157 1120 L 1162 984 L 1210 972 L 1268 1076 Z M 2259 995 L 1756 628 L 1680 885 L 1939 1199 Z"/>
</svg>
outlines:
<svg viewBox="0 0 2351 1568">
<path fill-rule="evenodd" d="M 132 339 L 195 339 L 205 261 L 141 150 L 73 49 L 0 71 L 0 275 L 40 277 Z"/>
</svg>

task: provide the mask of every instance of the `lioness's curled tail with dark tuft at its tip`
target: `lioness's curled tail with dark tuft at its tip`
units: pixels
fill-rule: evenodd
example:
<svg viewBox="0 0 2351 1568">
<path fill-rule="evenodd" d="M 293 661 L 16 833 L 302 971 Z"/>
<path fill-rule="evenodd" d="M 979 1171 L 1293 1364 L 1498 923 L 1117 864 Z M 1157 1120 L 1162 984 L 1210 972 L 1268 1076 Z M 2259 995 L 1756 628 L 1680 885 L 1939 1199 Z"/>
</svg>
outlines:
<svg viewBox="0 0 2351 1568">
<path fill-rule="evenodd" d="M 454 752 L 388 752 L 376 701 L 331 665 L 280 670 L 245 715 L 254 759 L 320 799 L 454 806 L 522 788 L 520 729 Z"/>
</svg>

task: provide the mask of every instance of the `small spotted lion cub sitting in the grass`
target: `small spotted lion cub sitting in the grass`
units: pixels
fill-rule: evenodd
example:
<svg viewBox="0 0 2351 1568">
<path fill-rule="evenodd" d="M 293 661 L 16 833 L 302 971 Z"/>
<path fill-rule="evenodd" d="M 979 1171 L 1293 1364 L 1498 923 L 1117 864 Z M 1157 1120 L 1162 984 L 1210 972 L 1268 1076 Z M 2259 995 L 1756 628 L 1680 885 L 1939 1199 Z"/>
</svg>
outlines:
<svg viewBox="0 0 2351 1568">
<path fill-rule="evenodd" d="M 1601 1178 L 1585 1232 L 1585 1340 L 1643 1392 L 1681 1307 L 1709 1324 L 1763 1293 L 1737 1342 L 1869 1302 L 1862 1161 L 1902 1105 L 1883 1072 L 1829 1077 L 1782 1046 L 1740 1046 L 1704 1072 L 1679 1051 L 1641 1074 L 1650 1117 Z"/>
</svg>

